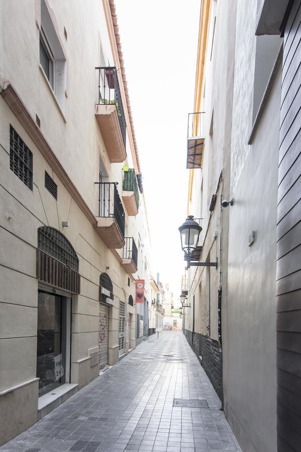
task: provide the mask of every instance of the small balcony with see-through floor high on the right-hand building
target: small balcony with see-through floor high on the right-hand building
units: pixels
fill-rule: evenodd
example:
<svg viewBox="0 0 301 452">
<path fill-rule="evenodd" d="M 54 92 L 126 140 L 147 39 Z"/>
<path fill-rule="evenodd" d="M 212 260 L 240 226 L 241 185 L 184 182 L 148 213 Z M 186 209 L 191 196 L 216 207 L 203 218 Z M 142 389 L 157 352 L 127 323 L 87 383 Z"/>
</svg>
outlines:
<svg viewBox="0 0 301 452">
<path fill-rule="evenodd" d="M 201 168 L 205 144 L 205 113 L 190 113 L 187 130 L 187 165 L 186 168 Z"/>
</svg>

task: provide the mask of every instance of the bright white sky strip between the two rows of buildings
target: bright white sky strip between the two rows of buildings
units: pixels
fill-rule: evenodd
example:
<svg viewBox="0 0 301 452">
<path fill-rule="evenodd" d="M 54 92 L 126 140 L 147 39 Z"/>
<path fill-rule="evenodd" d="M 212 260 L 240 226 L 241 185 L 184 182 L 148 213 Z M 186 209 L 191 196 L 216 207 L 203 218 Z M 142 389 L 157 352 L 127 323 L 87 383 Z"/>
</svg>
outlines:
<svg viewBox="0 0 301 452">
<path fill-rule="evenodd" d="M 115 0 L 152 241 L 152 271 L 180 295 L 201 0 Z M 155 275 L 154 275 L 155 276 Z"/>
</svg>

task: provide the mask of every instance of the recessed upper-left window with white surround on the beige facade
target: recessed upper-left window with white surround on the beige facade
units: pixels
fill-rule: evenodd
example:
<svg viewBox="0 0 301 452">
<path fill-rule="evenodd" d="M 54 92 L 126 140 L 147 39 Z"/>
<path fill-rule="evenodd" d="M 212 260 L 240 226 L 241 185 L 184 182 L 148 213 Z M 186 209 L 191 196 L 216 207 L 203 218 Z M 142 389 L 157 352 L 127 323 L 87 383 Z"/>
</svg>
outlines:
<svg viewBox="0 0 301 452">
<path fill-rule="evenodd" d="M 40 67 L 64 110 L 66 91 L 66 56 L 50 17 L 45 0 L 41 0 Z"/>
</svg>

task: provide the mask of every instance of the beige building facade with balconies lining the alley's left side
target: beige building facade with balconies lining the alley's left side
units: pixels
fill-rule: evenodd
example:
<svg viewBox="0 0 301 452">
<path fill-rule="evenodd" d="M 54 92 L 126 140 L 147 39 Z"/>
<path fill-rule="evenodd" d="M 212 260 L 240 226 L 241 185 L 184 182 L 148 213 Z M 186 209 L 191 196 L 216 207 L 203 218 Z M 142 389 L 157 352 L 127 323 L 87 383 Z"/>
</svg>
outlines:
<svg viewBox="0 0 301 452">
<path fill-rule="evenodd" d="M 150 256 L 113 2 L 5 0 L 0 21 L 3 444 L 135 347 Z"/>
</svg>

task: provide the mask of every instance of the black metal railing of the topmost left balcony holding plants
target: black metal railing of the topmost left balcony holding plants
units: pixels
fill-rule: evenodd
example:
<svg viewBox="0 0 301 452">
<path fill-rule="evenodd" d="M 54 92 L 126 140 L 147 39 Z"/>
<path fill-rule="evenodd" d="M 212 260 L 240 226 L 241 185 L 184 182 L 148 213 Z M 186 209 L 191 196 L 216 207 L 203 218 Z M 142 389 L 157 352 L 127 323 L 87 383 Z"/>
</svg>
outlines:
<svg viewBox="0 0 301 452">
<path fill-rule="evenodd" d="M 111 103 L 116 106 L 123 144 L 126 140 L 126 123 L 122 106 L 117 70 L 113 66 L 96 67 L 98 71 L 97 104 Z"/>
</svg>

